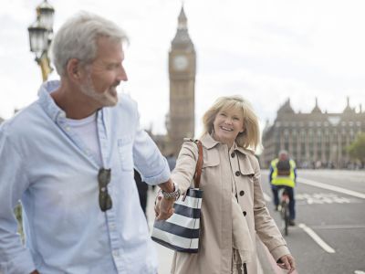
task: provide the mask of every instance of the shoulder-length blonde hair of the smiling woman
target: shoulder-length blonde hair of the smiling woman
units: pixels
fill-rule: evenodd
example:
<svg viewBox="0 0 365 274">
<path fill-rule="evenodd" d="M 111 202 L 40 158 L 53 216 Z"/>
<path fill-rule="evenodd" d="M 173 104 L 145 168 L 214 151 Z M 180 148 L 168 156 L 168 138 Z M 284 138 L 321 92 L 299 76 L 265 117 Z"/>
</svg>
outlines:
<svg viewBox="0 0 365 274">
<path fill-rule="evenodd" d="M 258 119 L 251 104 L 239 95 L 224 96 L 215 100 L 214 104 L 203 115 L 203 134 L 214 132 L 214 120 L 219 111 L 235 108 L 242 111 L 244 116 L 244 132 L 238 133 L 235 142 L 245 149 L 253 149 L 260 143 Z"/>
</svg>

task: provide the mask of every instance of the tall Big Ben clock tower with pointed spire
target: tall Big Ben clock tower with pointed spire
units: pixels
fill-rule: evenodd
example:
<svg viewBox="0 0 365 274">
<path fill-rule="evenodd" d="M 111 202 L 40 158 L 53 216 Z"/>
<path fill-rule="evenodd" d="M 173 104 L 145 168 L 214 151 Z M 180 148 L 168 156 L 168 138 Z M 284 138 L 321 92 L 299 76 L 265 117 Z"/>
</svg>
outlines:
<svg viewBox="0 0 365 274">
<path fill-rule="evenodd" d="M 182 7 L 169 52 L 170 113 L 167 130 L 175 156 L 181 149 L 183 138 L 194 136 L 195 68 L 195 49 L 189 37 L 187 18 Z"/>
</svg>

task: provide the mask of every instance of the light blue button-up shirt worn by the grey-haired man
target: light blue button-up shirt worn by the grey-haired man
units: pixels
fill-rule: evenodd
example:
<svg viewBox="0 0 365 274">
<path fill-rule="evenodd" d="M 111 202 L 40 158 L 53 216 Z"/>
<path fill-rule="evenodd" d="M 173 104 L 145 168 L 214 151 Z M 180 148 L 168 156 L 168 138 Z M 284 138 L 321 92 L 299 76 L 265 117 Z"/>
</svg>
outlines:
<svg viewBox="0 0 365 274">
<path fill-rule="evenodd" d="M 141 130 L 136 103 L 121 96 L 98 111 L 103 167 L 112 208 L 99 208 L 99 164 L 72 132 L 45 83 L 39 99 L 0 126 L 0 273 L 155 274 L 157 256 L 133 180 L 170 177 L 169 165 Z M 13 214 L 24 207 L 26 247 Z"/>
</svg>

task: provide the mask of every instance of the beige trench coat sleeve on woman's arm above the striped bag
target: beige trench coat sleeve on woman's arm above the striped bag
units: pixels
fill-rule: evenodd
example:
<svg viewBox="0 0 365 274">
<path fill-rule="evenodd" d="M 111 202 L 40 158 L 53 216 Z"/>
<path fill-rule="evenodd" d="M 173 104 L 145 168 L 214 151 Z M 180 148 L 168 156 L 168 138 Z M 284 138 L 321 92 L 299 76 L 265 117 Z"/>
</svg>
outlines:
<svg viewBox="0 0 365 274">
<path fill-rule="evenodd" d="M 172 182 L 179 185 L 181 193 L 190 187 L 195 173 L 195 165 L 198 160 L 198 148 L 194 142 L 183 142 L 182 150 L 172 171 Z"/>
</svg>

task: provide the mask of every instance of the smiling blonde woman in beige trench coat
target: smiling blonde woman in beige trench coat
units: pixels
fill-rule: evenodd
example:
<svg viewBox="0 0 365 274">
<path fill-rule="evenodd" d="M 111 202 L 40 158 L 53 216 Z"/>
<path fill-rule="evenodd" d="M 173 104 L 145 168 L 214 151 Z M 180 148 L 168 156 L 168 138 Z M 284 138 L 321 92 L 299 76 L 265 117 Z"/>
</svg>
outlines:
<svg viewBox="0 0 365 274">
<path fill-rule="evenodd" d="M 257 273 L 255 233 L 282 269 L 294 258 L 268 213 L 254 151 L 259 144 L 255 112 L 240 96 L 222 97 L 203 115 L 203 190 L 199 252 L 175 252 L 173 274 Z M 198 149 L 183 143 L 172 181 L 184 193 L 192 183 Z"/>
</svg>

